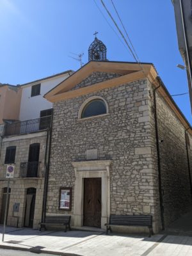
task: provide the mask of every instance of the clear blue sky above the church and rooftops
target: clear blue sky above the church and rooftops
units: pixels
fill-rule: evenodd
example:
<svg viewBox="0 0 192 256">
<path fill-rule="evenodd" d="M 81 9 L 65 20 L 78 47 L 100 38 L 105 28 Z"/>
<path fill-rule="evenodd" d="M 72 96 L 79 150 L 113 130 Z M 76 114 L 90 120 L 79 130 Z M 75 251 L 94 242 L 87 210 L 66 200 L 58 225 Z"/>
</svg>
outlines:
<svg viewBox="0 0 192 256">
<path fill-rule="evenodd" d="M 116 31 L 100 0 L 95 2 Z M 177 68 L 183 61 L 171 0 L 113 2 L 140 60 L 154 63 L 171 94 L 188 92 L 186 72 Z M 118 20 L 111 1 L 104 3 Z M 0 82 L 22 84 L 77 70 L 70 52 L 84 52 L 85 64 L 95 31 L 106 44 L 108 60 L 134 61 L 93 0 L 0 0 Z M 189 95 L 173 99 L 192 124 Z"/>
</svg>

